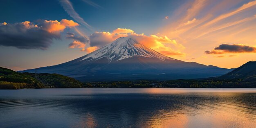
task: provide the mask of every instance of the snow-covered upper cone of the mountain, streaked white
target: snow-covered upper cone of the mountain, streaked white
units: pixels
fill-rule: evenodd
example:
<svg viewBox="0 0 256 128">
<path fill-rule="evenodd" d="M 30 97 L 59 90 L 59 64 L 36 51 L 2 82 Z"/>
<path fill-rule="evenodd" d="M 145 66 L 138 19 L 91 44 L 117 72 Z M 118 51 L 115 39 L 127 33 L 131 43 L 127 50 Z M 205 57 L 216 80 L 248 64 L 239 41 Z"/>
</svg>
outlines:
<svg viewBox="0 0 256 128">
<path fill-rule="evenodd" d="M 136 40 L 130 37 L 120 37 L 114 40 L 112 43 L 94 51 L 90 54 L 87 54 L 81 58 L 83 60 L 97 60 L 100 58 L 108 58 L 109 61 L 119 61 L 125 58 L 130 58 L 132 56 L 144 56 L 148 58 L 159 58 L 162 61 L 168 59 L 173 59 L 167 56 L 164 56 L 149 47 L 146 47 Z"/>
</svg>

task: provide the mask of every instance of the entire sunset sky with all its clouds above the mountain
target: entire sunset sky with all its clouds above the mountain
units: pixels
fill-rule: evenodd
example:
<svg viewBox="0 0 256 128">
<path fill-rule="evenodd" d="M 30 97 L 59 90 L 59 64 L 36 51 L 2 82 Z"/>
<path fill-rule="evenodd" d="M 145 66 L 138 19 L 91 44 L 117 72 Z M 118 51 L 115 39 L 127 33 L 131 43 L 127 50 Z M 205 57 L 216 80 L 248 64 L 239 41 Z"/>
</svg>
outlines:
<svg viewBox="0 0 256 128">
<path fill-rule="evenodd" d="M 256 61 L 256 0 L 0 0 L 0 66 L 45 67 L 130 36 L 204 65 Z"/>
</svg>

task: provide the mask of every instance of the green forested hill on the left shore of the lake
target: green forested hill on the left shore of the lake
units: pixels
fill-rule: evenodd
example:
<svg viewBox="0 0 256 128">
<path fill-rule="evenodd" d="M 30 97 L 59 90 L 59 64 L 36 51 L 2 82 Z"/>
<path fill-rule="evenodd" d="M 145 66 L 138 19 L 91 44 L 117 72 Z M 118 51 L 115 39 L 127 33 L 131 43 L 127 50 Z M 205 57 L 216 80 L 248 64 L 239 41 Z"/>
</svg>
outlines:
<svg viewBox="0 0 256 128">
<path fill-rule="evenodd" d="M 60 74 L 20 73 L 0 67 L 0 89 L 81 88 L 81 83 Z"/>
</svg>

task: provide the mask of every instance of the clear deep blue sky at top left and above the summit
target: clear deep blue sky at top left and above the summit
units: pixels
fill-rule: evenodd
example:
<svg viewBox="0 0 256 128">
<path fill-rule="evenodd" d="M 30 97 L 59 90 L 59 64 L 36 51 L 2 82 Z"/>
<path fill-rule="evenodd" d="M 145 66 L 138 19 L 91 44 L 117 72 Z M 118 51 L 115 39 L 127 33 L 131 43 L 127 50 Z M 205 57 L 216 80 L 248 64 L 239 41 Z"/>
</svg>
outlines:
<svg viewBox="0 0 256 128">
<path fill-rule="evenodd" d="M 70 2 L 75 11 L 94 27 L 95 31 L 112 31 L 119 27 L 151 34 L 150 31 L 162 25 L 165 16 L 170 15 L 185 1 L 93 0 L 100 7 L 94 7 L 83 0 L 70 0 Z M 4 4 L 0 5 L 0 11 L 5 13 L 1 13 L 1 22 L 72 19 L 58 0 L 6 0 L 2 3 Z"/>
</svg>

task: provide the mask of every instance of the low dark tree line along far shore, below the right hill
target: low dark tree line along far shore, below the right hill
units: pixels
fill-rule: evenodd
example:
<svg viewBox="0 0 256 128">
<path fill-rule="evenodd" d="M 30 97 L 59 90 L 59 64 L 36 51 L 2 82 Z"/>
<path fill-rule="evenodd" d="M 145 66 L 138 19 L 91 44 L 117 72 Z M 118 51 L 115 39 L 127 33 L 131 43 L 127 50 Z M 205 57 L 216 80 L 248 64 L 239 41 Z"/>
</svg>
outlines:
<svg viewBox="0 0 256 128">
<path fill-rule="evenodd" d="M 242 79 L 87 82 L 84 88 L 256 88 L 255 81 Z"/>
</svg>

